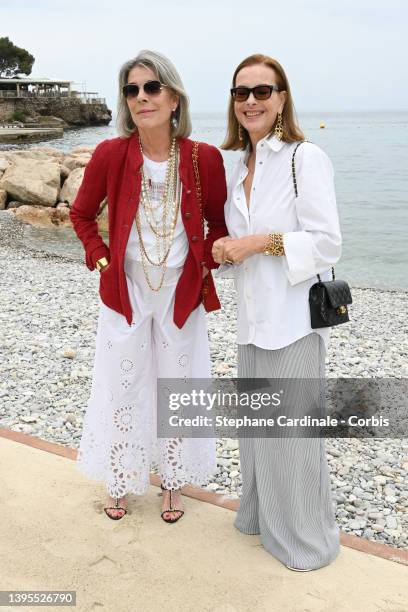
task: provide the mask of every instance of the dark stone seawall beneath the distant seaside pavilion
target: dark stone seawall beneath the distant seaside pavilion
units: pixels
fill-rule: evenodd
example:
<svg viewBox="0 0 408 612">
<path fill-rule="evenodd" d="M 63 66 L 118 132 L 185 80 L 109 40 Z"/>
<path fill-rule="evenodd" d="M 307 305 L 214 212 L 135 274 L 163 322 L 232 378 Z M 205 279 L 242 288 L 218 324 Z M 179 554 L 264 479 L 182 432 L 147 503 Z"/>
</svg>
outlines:
<svg viewBox="0 0 408 612">
<path fill-rule="evenodd" d="M 108 125 L 112 120 L 112 111 L 106 104 L 85 104 L 78 98 L 0 98 L 0 121 L 9 121 L 16 112 L 27 123 L 53 116 L 70 127 Z"/>
</svg>

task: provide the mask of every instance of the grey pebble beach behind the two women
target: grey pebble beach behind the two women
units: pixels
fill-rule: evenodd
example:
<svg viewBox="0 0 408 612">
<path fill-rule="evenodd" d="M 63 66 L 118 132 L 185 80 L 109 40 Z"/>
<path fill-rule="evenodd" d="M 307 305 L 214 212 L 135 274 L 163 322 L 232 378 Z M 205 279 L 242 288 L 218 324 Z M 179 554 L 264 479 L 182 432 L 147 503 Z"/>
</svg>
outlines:
<svg viewBox="0 0 408 612">
<path fill-rule="evenodd" d="M 0 427 L 78 447 L 90 392 L 98 275 L 80 261 L 31 251 L 23 225 L 0 211 L 2 333 Z M 213 374 L 236 376 L 235 296 L 218 280 L 211 313 Z M 78 294 L 80 288 L 80 295 Z M 330 377 L 408 377 L 408 293 L 354 289 L 351 322 L 335 328 Z M 408 550 L 408 440 L 326 440 L 337 521 L 344 531 Z M 207 485 L 241 486 L 238 442 L 217 442 L 219 472 Z"/>
</svg>

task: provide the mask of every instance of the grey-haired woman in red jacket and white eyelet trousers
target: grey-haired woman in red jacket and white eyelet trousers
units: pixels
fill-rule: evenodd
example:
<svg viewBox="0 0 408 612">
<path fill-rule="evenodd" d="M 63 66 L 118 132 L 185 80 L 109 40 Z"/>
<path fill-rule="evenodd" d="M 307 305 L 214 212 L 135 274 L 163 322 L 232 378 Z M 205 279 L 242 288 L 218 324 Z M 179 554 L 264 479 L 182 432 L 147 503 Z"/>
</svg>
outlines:
<svg viewBox="0 0 408 612">
<path fill-rule="evenodd" d="M 204 310 L 220 307 L 211 249 L 227 234 L 225 172 L 215 147 L 188 139 L 188 98 L 161 54 L 142 51 L 121 68 L 118 126 L 120 137 L 96 147 L 70 214 L 101 297 L 77 466 L 106 482 L 105 512 L 117 520 L 157 465 L 162 518 L 175 522 L 181 487 L 216 469 L 215 440 L 157 439 L 156 381 L 210 376 Z M 96 223 L 105 197 L 109 246 Z"/>
</svg>

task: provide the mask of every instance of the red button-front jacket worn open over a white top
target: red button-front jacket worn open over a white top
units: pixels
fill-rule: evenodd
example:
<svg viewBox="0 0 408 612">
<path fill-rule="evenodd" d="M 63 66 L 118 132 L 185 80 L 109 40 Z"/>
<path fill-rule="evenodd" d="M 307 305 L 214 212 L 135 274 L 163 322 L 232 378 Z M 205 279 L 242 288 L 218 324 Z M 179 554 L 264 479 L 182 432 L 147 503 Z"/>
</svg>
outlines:
<svg viewBox="0 0 408 612">
<path fill-rule="evenodd" d="M 202 222 L 196 195 L 192 163 L 193 141 L 179 139 L 180 180 L 183 185 L 181 217 L 189 243 L 183 272 L 176 287 L 174 323 L 183 327 L 190 313 L 202 301 L 202 267 L 217 268 L 212 258 L 214 240 L 228 234 L 224 220 L 227 198 L 225 170 L 221 153 L 211 145 L 200 143 L 199 171 L 204 217 L 208 223 L 207 237 L 202 234 Z M 85 248 L 86 265 L 95 269 L 101 257 L 110 260 L 101 272 L 99 293 L 102 302 L 123 314 L 132 323 L 124 257 L 129 233 L 139 206 L 143 157 L 137 134 L 129 138 L 104 140 L 95 149 L 88 162 L 82 185 L 70 211 L 70 218 L 78 238 Z M 109 247 L 98 233 L 96 215 L 100 203 L 107 196 L 109 215 Z M 209 272 L 204 306 L 207 311 L 220 308 L 214 282 Z"/>
</svg>

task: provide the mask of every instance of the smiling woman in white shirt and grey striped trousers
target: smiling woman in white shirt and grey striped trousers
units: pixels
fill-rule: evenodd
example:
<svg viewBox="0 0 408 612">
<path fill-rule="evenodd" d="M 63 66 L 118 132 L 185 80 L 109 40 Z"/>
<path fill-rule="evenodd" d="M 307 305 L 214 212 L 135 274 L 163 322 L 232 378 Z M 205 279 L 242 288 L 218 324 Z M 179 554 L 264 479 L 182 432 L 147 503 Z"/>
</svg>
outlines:
<svg viewBox="0 0 408 612">
<path fill-rule="evenodd" d="M 225 206 L 229 236 L 213 245 L 220 273 L 229 267 L 235 278 L 240 378 L 324 378 L 329 330 L 311 328 L 308 296 L 317 274 L 331 278 L 341 234 L 332 164 L 308 142 L 293 158 L 303 139 L 280 64 L 263 55 L 241 62 L 223 148 L 243 153 Z M 240 458 L 235 526 L 260 534 L 289 569 L 331 563 L 339 529 L 324 439 L 242 438 Z"/>
</svg>

